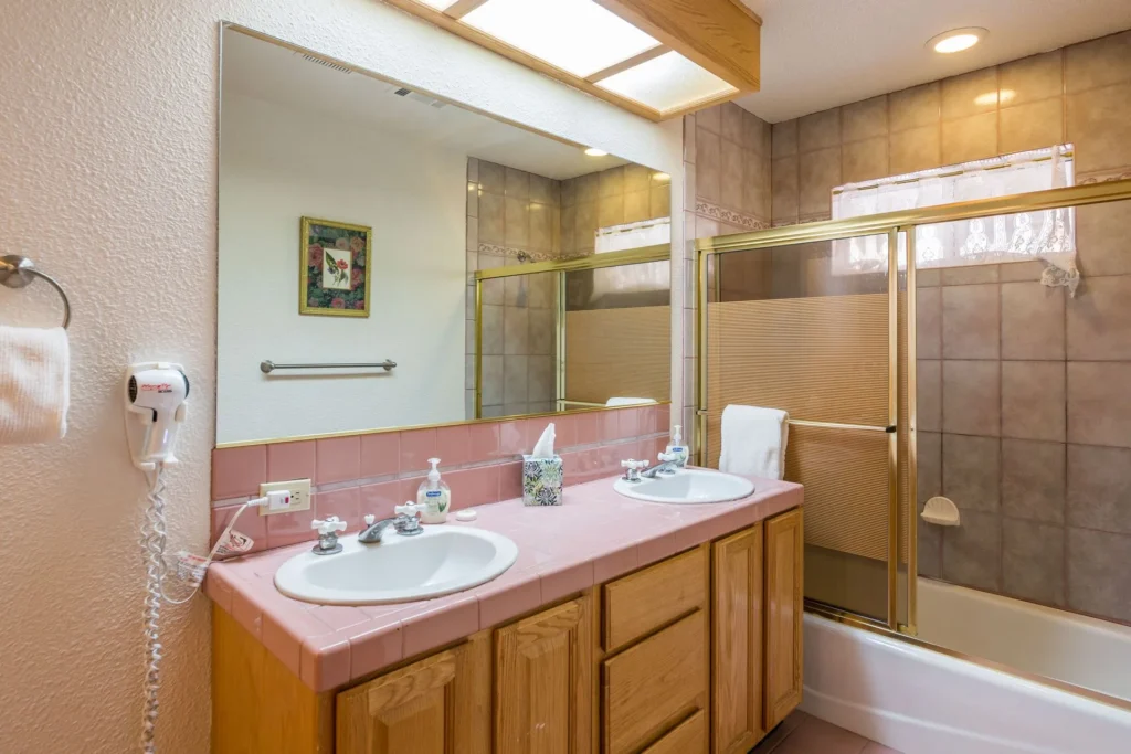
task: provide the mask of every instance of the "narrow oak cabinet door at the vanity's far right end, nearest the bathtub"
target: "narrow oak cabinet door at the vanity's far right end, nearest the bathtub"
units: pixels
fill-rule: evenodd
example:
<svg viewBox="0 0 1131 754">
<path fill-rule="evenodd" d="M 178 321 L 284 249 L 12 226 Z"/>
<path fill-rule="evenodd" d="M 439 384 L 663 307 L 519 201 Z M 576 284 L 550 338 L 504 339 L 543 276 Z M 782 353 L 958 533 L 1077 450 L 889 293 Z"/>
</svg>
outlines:
<svg viewBox="0 0 1131 754">
<path fill-rule="evenodd" d="M 801 509 L 766 522 L 766 728 L 801 703 L 804 539 Z"/>
</svg>

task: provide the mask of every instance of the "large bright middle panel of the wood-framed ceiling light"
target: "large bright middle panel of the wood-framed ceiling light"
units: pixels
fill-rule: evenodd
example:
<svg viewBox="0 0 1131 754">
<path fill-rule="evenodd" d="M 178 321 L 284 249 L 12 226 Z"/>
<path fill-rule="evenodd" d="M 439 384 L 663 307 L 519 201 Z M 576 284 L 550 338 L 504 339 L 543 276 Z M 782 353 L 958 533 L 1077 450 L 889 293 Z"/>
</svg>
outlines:
<svg viewBox="0 0 1131 754">
<path fill-rule="evenodd" d="M 580 78 L 659 44 L 593 0 L 487 0 L 460 20 Z"/>
</svg>

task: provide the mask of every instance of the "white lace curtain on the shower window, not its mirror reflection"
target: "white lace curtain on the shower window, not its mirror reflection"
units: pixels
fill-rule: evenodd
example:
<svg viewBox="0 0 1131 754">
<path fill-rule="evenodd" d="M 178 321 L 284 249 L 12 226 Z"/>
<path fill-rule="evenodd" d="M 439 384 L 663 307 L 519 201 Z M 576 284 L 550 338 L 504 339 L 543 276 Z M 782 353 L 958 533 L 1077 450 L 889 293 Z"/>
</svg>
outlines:
<svg viewBox="0 0 1131 754">
<path fill-rule="evenodd" d="M 832 218 L 1072 185 L 1071 154 L 1071 145 L 1060 145 L 895 175 L 866 184 L 848 183 L 834 189 Z M 917 269 L 1033 259 L 1046 262 L 1043 283 L 1065 285 L 1076 292 L 1079 272 L 1076 268 L 1076 216 L 1071 208 L 938 223 L 921 226 L 915 233 Z M 877 272 L 886 270 L 887 266 L 887 236 L 834 242 L 835 275 Z M 905 266 L 901 254 L 900 268 Z"/>
</svg>

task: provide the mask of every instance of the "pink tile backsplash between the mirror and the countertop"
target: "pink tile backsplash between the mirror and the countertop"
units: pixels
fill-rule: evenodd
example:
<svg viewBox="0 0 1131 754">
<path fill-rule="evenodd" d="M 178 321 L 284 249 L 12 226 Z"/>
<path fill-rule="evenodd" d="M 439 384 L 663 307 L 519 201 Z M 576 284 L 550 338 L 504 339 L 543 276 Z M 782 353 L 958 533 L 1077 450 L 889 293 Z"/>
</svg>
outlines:
<svg viewBox="0 0 1131 754">
<path fill-rule="evenodd" d="M 581 484 L 620 471 L 628 458 L 655 458 L 667 444 L 667 405 L 584 411 L 555 417 L 482 422 L 456 426 L 356 434 L 325 440 L 275 442 L 213 451 L 213 540 L 265 482 L 309 478 L 308 511 L 260 517 L 249 510 L 236 529 L 256 540 L 254 549 L 283 547 L 314 538 L 316 518 L 337 515 L 347 531 L 362 517 L 392 514 L 392 506 L 416 500 L 416 488 L 439 457 L 451 486 L 452 509 L 519 497 L 521 453 L 529 452 L 553 422 L 566 484 Z"/>
</svg>

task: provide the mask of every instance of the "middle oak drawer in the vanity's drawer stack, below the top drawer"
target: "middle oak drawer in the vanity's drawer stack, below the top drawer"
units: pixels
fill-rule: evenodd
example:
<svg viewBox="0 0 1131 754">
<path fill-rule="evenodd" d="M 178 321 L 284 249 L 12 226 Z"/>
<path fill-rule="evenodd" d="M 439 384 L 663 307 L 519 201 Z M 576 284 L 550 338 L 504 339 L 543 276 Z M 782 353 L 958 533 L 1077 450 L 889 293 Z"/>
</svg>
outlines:
<svg viewBox="0 0 1131 754">
<path fill-rule="evenodd" d="M 707 619 L 697 610 L 605 660 L 604 752 L 639 752 L 707 705 Z"/>
</svg>

